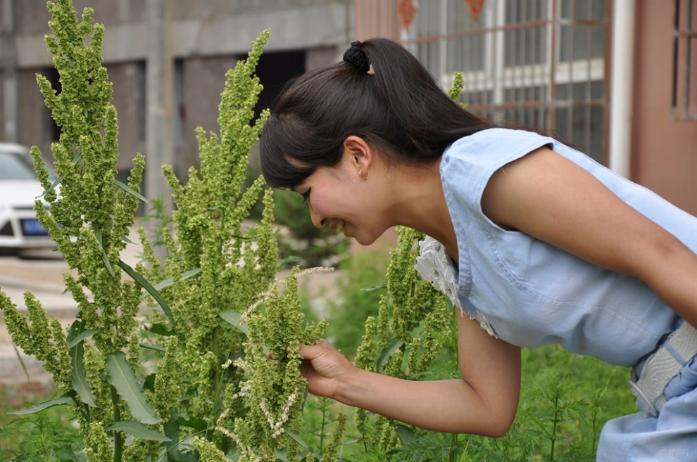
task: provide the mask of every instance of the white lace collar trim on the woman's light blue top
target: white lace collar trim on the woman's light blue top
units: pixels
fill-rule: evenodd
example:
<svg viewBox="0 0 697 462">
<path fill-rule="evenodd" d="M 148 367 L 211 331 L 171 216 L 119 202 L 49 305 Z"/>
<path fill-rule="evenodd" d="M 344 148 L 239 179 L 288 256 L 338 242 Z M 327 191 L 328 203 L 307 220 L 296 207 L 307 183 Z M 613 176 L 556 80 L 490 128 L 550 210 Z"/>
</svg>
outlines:
<svg viewBox="0 0 697 462">
<path fill-rule="evenodd" d="M 458 297 L 455 271 L 453 271 L 450 257 L 448 257 L 443 245 L 434 238 L 427 236 L 425 240 L 420 241 L 419 248 L 420 255 L 416 257 L 414 269 L 423 279 L 429 281 L 434 288 L 450 298 L 451 302 L 460 309 L 460 312 L 465 313 Z M 470 316 L 470 319 L 476 319 L 479 322 L 479 326 L 489 335 L 498 338 L 494 334 L 494 329 L 491 328 L 489 321 L 486 321 L 486 317 L 478 309 L 475 316 L 469 313 L 467 315 Z"/>
</svg>

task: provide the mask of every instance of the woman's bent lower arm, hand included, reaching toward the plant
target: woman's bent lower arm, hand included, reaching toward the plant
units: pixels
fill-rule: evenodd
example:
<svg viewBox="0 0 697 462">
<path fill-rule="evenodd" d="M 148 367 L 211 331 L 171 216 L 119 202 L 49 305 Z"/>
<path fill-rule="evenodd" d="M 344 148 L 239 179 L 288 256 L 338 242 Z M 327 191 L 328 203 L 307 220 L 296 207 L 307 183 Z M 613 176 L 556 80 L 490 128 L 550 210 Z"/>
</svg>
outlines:
<svg viewBox="0 0 697 462">
<path fill-rule="evenodd" d="M 520 396 L 520 348 L 458 314 L 462 379 L 413 381 L 353 366 L 329 342 L 301 345 L 308 390 L 428 430 L 499 437 Z"/>
</svg>

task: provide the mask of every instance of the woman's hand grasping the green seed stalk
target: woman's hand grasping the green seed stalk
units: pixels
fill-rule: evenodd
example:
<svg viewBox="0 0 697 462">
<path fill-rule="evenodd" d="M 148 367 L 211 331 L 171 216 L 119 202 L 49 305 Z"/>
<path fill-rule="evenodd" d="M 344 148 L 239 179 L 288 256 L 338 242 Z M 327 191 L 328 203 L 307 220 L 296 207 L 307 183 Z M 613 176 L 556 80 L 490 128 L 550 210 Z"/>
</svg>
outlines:
<svg viewBox="0 0 697 462">
<path fill-rule="evenodd" d="M 339 385 L 357 369 L 327 340 L 300 345 L 298 351 L 303 357 L 300 372 L 308 380 L 309 392 L 318 396 L 336 399 Z"/>
</svg>

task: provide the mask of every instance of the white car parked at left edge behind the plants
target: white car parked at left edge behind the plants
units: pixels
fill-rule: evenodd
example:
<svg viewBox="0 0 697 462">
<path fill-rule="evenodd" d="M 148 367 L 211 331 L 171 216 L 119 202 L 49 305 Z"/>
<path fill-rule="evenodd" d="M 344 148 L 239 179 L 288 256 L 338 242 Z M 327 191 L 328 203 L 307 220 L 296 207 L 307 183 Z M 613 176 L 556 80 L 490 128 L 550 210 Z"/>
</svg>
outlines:
<svg viewBox="0 0 697 462">
<path fill-rule="evenodd" d="M 34 212 L 44 188 L 33 165 L 29 148 L 0 143 L 0 250 L 56 247 Z"/>
</svg>

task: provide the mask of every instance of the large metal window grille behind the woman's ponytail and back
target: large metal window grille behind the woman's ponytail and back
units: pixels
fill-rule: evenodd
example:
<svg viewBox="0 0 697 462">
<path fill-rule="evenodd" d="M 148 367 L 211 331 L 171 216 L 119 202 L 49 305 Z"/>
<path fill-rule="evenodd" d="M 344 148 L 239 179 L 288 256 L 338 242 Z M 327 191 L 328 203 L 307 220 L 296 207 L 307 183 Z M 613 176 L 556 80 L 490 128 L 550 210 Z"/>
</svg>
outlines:
<svg viewBox="0 0 697 462">
<path fill-rule="evenodd" d="M 693 0 L 677 0 L 689 1 Z M 488 0 L 475 20 L 463 0 L 418 3 L 402 41 L 475 113 L 546 129 L 607 163 L 605 0 Z"/>
</svg>

